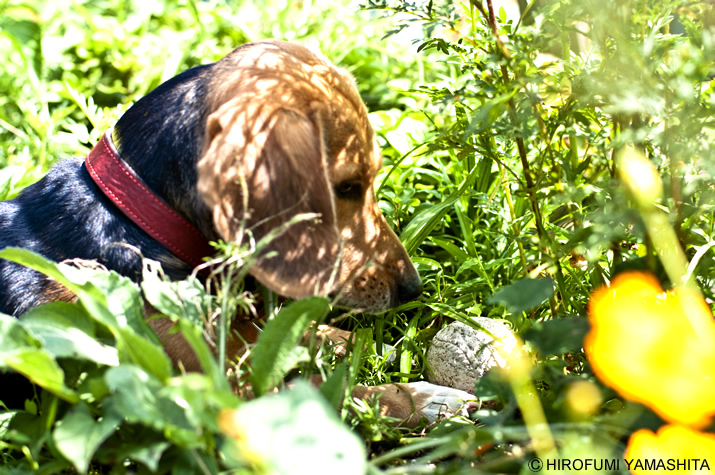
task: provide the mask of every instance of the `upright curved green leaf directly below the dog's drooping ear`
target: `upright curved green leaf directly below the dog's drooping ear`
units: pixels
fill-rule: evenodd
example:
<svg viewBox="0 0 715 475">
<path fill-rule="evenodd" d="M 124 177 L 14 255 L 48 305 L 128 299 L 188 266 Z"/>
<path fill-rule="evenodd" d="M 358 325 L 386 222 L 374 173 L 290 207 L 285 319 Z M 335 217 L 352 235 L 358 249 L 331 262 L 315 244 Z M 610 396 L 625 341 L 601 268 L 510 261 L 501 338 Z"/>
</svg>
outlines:
<svg viewBox="0 0 715 475">
<path fill-rule="evenodd" d="M 307 352 L 296 349 L 296 344 L 313 321 L 325 316 L 328 308 L 327 299 L 309 297 L 292 302 L 268 321 L 251 355 L 251 384 L 256 395 L 265 394 L 305 360 Z"/>
</svg>

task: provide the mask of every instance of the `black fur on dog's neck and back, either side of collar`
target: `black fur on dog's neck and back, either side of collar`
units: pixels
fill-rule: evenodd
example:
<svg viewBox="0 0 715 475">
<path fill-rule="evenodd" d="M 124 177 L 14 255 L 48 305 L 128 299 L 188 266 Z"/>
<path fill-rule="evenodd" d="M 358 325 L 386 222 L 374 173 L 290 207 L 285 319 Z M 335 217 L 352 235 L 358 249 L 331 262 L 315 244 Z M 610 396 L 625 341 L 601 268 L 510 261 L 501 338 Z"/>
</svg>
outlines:
<svg viewBox="0 0 715 475">
<path fill-rule="evenodd" d="M 122 158 L 156 194 L 216 239 L 211 213 L 196 190 L 212 67 L 198 66 L 157 87 L 122 116 L 113 137 Z M 16 199 L 0 202 L 0 248 L 7 246 L 55 261 L 94 259 L 135 280 L 141 256 L 162 262 L 175 278 L 191 270 L 104 196 L 82 159 L 62 160 Z M 47 291 L 44 276 L 0 259 L 0 312 L 21 315 L 47 301 Z"/>
</svg>

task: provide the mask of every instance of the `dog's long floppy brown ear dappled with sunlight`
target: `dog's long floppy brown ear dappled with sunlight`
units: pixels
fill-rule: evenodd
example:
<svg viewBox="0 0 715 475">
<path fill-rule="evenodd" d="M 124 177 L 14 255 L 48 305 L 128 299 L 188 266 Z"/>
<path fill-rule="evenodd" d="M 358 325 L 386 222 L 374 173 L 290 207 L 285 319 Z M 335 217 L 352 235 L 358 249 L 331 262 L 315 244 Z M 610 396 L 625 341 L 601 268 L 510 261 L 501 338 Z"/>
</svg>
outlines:
<svg viewBox="0 0 715 475">
<path fill-rule="evenodd" d="M 322 109 L 308 109 L 234 99 L 209 116 L 198 164 L 199 191 L 224 241 L 278 232 L 249 272 L 291 298 L 329 292 L 339 256 Z M 313 217 L 290 223 L 302 213 Z"/>
</svg>

